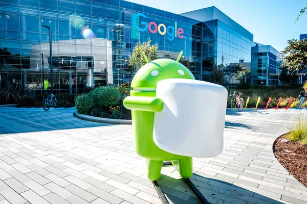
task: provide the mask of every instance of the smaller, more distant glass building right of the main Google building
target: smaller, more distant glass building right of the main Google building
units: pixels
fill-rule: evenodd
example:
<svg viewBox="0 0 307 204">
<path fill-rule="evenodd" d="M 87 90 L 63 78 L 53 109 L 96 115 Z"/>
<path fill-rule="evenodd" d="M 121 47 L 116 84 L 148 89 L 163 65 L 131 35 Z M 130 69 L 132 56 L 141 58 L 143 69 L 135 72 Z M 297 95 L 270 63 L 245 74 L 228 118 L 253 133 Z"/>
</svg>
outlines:
<svg viewBox="0 0 307 204">
<path fill-rule="evenodd" d="M 270 45 L 252 47 L 252 83 L 265 86 L 280 85 L 279 52 Z"/>
</svg>

